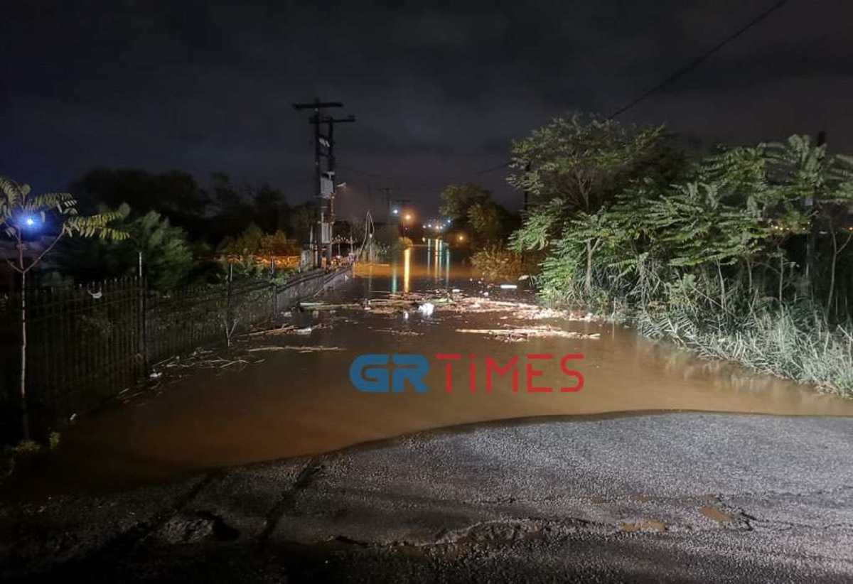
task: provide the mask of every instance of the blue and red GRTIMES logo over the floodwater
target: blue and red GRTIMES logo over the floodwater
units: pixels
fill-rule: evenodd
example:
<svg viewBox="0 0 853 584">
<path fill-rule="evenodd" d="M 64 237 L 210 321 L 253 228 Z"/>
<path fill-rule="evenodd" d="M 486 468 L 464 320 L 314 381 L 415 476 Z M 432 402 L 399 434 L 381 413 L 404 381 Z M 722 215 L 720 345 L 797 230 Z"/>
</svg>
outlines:
<svg viewBox="0 0 853 584">
<path fill-rule="evenodd" d="M 461 353 L 438 353 L 435 356 L 438 361 L 444 362 L 444 391 L 453 391 L 453 365 L 455 361 L 461 361 Z M 562 393 L 575 393 L 583 389 L 583 374 L 577 369 L 570 369 L 572 361 L 583 359 L 583 353 L 568 353 L 559 360 L 560 371 L 571 378 L 574 383 L 565 387 L 554 388 L 539 386 L 536 378 L 545 373 L 544 368 L 556 367 L 558 365 L 554 355 L 549 353 L 529 353 L 525 355 L 525 385 L 528 393 L 552 393 L 555 390 Z M 468 356 L 468 390 L 477 392 L 477 360 L 473 355 Z M 392 366 L 392 367 L 391 367 Z M 416 353 L 397 353 L 388 355 L 386 353 L 370 353 L 357 356 L 350 366 L 350 381 L 359 391 L 369 393 L 387 393 L 389 391 L 402 392 L 405 390 L 406 381 L 415 388 L 418 393 L 429 390 L 424 378 L 430 370 L 430 362 L 427 356 Z M 508 363 L 501 366 L 491 357 L 485 358 L 485 391 L 491 393 L 494 376 L 512 375 L 513 391 L 519 391 L 519 356 L 514 356 Z"/>
</svg>

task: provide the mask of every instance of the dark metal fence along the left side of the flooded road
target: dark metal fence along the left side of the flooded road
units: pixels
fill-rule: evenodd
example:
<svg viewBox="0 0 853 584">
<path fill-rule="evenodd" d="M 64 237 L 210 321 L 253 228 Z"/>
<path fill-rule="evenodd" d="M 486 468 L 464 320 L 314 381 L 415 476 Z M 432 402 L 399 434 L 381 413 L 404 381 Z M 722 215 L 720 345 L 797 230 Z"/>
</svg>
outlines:
<svg viewBox="0 0 853 584">
<path fill-rule="evenodd" d="M 245 332 L 348 270 L 316 270 L 283 285 L 257 280 L 148 292 L 110 280 L 26 295 L 26 392 L 34 430 L 96 407 L 138 383 L 152 364 Z M 0 439 L 20 420 L 20 295 L 0 297 Z"/>
</svg>

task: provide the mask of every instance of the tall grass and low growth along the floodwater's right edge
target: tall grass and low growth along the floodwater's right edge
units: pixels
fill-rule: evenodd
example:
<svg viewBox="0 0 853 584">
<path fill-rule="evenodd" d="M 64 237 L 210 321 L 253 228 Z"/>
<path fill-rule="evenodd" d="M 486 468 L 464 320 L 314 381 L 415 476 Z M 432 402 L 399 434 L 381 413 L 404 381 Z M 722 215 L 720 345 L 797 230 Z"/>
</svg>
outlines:
<svg viewBox="0 0 853 584">
<path fill-rule="evenodd" d="M 831 324 L 807 297 L 759 298 L 735 279 L 723 292 L 713 275 L 701 273 L 625 284 L 606 270 L 588 291 L 570 262 L 549 260 L 537 285 L 550 304 L 583 306 L 705 359 L 738 361 L 853 398 L 853 322 Z"/>
</svg>

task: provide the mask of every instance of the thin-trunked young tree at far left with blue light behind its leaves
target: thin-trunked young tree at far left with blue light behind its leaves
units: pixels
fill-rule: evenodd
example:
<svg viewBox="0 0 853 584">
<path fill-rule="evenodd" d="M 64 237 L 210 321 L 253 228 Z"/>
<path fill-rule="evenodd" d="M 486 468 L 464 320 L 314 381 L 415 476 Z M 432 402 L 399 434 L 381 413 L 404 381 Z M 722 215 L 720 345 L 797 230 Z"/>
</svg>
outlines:
<svg viewBox="0 0 853 584">
<path fill-rule="evenodd" d="M 20 405 L 23 437 L 30 437 L 26 408 L 26 275 L 54 249 L 63 237 L 99 237 L 122 240 L 124 231 L 107 226 L 119 217 L 116 212 L 104 212 L 89 217 L 78 215 L 77 200 L 67 193 L 45 193 L 31 196 L 30 186 L 0 176 L 0 228 L 15 241 L 17 261 L 7 260 L 20 274 Z M 40 251 L 26 257 L 27 237 L 38 228 L 49 228 L 53 234 L 45 238 Z M 29 260 L 29 261 L 27 261 Z"/>
</svg>

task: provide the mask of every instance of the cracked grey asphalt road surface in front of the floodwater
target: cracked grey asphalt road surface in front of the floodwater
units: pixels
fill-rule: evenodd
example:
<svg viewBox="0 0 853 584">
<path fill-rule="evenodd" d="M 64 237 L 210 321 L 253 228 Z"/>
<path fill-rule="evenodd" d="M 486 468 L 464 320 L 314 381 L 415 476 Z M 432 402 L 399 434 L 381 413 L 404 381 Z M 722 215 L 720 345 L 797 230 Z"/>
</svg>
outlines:
<svg viewBox="0 0 853 584">
<path fill-rule="evenodd" d="M 853 581 L 853 419 L 431 431 L 0 509 L 0 576 Z"/>
</svg>

